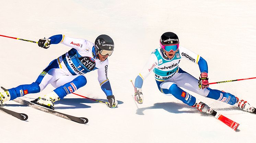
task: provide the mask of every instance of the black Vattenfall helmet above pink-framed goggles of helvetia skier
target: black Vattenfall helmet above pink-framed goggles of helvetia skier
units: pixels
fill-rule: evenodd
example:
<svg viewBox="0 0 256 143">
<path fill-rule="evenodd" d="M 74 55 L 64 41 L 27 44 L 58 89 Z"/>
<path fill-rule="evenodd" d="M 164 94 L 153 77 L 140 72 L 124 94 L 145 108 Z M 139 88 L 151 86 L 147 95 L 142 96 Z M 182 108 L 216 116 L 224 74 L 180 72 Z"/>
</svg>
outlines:
<svg viewBox="0 0 256 143">
<path fill-rule="evenodd" d="M 160 37 L 160 46 L 179 44 L 178 36 L 173 32 L 165 32 Z"/>
</svg>

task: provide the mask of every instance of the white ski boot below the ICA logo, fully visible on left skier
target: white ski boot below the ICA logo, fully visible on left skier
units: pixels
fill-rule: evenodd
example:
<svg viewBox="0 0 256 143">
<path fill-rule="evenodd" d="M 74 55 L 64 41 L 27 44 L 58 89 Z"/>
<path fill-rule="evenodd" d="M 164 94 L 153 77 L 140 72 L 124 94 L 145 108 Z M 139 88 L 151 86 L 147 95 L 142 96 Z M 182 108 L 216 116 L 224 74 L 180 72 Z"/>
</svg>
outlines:
<svg viewBox="0 0 256 143">
<path fill-rule="evenodd" d="M 37 99 L 31 101 L 34 104 L 44 106 L 46 108 L 54 110 L 54 102 L 60 100 L 59 96 L 54 92 L 50 92 L 44 97 L 38 97 Z"/>
</svg>

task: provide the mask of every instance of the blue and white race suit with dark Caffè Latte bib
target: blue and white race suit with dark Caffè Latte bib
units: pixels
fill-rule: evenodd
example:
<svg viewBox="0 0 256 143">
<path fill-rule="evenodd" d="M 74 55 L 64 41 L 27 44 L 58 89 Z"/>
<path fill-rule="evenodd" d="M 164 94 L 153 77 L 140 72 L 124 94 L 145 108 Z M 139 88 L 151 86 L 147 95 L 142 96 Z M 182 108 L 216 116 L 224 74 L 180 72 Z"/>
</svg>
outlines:
<svg viewBox="0 0 256 143">
<path fill-rule="evenodd" d="M 53 85 L 60 99 L 84 86 L 85 74 L 98 71 L 98 82 L 106 96 L 113 95 L 107 77 L 108 59 L 100 61 L 95 53 L 94 44 L 85 39 L 54 35 L 51 44 L 64 44 L 72 47 L 70 51 L 54 59 L 32 84 L 20 85 L 9 89 L 11 100 L 30 93 L 42 91 L 48 84 Z"/>
</svg>

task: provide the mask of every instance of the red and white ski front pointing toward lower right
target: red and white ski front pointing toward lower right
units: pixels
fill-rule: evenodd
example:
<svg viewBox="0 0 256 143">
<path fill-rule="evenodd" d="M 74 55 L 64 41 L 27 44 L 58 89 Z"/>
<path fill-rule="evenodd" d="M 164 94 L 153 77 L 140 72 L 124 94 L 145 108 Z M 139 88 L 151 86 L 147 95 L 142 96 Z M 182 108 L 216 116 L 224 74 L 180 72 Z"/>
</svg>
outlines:
<svg viewBox="0 0 256 143">
<path fill-rule="evenodd" d="M 221 115 L 220 113 L 218 113 L 214 110 L 213 110 L 213 113 L 211 113 L 211 115 L 214 116 L 216 119 L 222 121 L 222 123 L 228 125 L 234 131 L 236 131 L 237 127 L 240 125 L 240 124 L 236 123 L 235 121 Z"/>
</svg>

